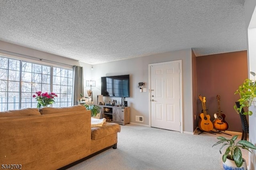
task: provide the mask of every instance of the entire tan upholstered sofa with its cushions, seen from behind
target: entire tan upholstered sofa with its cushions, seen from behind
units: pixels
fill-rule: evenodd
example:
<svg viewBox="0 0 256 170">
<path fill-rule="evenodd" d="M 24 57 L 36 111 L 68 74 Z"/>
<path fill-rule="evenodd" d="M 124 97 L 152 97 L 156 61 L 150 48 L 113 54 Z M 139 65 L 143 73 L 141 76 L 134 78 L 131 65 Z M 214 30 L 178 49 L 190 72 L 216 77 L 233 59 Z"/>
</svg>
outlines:
<svg viewBox="0 0 256 170">
<path fill-rule="evenodd" d="M 7 169 L 16 164 L 24 170 L 56 170 L 116 148 L 120 125 L 91 127 L 90 120 L 82 105 L 0 112 L 0 163 Z"/>
</svg>

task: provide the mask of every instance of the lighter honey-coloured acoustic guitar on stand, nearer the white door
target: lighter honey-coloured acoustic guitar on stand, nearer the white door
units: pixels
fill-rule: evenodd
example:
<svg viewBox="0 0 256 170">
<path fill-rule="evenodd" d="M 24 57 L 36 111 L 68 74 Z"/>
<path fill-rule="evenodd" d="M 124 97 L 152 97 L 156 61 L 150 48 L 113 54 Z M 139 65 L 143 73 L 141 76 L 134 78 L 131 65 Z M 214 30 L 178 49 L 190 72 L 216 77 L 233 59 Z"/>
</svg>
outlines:
<svg viewBox="0 0 256 170">
<path fill-rule="evenodd" d="M 210 115 L 207 115 L 206 113 L 206 106 L 205 106 L 206 99 L 201 95 L 199 95 L 199 99 L 202 102 L 203 113 L 199 115 L 200 119 L 199 119 L 198 127 L 202 131 L 211 131 L 213 129 L 213 124 L 212 124 L 212 121 L 210 120 Z"/>
</svg>

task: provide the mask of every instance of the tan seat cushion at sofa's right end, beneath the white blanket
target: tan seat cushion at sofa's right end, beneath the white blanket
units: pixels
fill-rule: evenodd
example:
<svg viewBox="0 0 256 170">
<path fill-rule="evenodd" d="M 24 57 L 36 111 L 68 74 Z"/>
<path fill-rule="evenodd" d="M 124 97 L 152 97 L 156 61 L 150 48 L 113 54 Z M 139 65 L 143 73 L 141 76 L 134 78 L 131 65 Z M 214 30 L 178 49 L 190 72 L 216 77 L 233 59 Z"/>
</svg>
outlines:
<svg viewBox="0 0 256 170">
<path fill-rule="evenodd" d="M 92 127 L 92 140 L 104 138 L 121 131 L 121 126 L 117 123 L 105 122 L 101 127 Z"/>
</svg>

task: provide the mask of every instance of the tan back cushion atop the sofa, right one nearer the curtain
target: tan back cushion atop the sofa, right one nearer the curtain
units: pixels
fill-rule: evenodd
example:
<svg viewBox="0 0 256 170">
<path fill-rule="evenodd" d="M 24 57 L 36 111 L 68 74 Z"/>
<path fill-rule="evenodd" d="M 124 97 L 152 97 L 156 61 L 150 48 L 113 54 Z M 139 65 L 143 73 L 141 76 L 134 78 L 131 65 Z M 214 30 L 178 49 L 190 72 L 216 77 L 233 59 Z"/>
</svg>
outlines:
<svg viewBox="0 0 256 170">
<path fill-rule="evenodd" d="M 72 113 L 76 111 L 85 111 L 86 108 L 83 105 L 75 105 L 72 107 L 42 107 L 39 109 L 41 115 L 48 115 L 52 113 Z"/>
</svg>

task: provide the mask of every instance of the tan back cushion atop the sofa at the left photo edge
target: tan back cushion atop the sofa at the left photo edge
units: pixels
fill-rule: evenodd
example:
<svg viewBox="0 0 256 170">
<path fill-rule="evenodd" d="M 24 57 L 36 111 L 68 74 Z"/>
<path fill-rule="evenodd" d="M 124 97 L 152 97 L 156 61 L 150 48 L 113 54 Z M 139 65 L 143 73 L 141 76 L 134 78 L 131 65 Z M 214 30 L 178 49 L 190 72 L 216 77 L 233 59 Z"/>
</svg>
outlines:
<svg viewBox="0 0 256 170">
<path fill-rule="evenodd" d="M 32 116 L 41 115 L 37 108 L 26 108 L 20 110 L 0 112 L 0 117 Z"/>
</svg>

